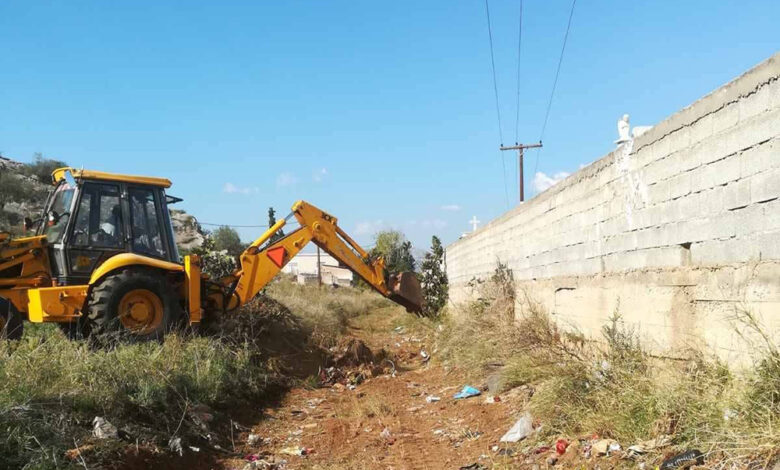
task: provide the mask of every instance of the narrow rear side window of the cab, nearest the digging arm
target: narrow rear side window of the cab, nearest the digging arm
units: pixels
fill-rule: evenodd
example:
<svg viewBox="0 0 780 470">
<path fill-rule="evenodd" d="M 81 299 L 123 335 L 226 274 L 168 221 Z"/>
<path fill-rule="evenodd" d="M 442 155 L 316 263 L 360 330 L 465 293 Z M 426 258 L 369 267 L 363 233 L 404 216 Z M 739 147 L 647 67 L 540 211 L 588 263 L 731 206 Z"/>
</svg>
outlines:
<svg viewBox="0 0 780 470">
<path fill-rule="evenodd" d="M 165 258 L 160 217 L 157 211 L 156 191 L 132 188 L 130 218 L 133 229 L 133 251 L 157 258 Z"/>
</svg>

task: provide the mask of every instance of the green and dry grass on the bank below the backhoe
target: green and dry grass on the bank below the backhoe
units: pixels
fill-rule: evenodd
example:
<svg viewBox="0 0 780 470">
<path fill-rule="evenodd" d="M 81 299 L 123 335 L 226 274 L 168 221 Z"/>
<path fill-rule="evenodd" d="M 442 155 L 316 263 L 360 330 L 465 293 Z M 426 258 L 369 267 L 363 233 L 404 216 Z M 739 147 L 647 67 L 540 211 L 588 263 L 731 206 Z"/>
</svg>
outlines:
<svg viewBox="0 0 780 470">
<path fill-rule="evenodd" d="M 289 282 L 274 283 L 267 294 L 212 324 L 206 336 L 174 334 L 162 344 L 96 349 L 67 340 L 54 325 L 26 325 L 21 341 L 0 343 L 0 467 L 83 468 L 63 453 L 91 439 L 95 416 L 142 444 L 166 448 L 174 436 L 197 439 L 201 431 L 188 410 L 206 405 L 227 416 L 257 409 L 316 374 L 324 347 L 336 344 L 347 319 L 387 305 L 373 292 Z M 385 412 L 378 404 L 361 407 Z M 229 436 L 227 423 L 215 423 L 214 434 Z M 87 464 L 117 458 L 122 445 L 101 441 Z"/>
</svg>

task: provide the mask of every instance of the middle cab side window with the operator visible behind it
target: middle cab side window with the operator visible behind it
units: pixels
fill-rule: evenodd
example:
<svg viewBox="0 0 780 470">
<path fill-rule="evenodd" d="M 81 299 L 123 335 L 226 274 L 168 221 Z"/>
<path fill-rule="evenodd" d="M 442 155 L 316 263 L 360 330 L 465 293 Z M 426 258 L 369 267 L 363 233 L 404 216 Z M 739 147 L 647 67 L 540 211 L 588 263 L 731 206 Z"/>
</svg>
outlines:
<svg viewBox="0 0 780 470">
<path fill-rule="evenodd" d="M 73 227 L 73 245 L 121 248 L 123 238 L 119 187 L 85 183 Z"/>
</svg>

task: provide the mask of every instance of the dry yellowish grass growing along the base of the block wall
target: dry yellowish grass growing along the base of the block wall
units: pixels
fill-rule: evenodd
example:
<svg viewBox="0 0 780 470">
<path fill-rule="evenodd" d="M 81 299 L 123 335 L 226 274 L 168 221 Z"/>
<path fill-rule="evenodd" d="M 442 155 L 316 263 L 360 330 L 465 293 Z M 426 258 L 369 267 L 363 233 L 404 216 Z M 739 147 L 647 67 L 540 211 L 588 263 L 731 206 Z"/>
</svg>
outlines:
<svg viewBox="0 0 780 470">
<path fill-rule="evenodd" d="M 595 342 L 562 330 L 539 308 L 515 318 L 514 293 L 496 278 L 445 320 L 439 349 L 475 379 L 498 374 L 504 388 L 533 386 L 530 409 L 544 423 L 542 439 L 595 432 L 627 446 L 671 435 L 680 449 L 711 454 L 717 468 L 776 458 L 780 355 L 752 316 L 741 322 L 763 341 L 760 358 L 755 369 L 735 373 L 700 353 L 685 361 L 651 357 L 618 312 Z"/>
</svg>

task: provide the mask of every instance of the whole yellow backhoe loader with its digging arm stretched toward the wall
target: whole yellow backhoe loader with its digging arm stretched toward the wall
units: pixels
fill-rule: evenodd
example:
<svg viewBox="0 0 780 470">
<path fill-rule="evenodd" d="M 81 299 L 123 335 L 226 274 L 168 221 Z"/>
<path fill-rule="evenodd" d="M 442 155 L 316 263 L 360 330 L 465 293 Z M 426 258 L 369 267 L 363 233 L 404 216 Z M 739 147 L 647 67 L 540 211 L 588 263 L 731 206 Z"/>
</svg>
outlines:
<svg viewBox="0 0 780 470">
<path fill-rule="evenodd" d="M 74 336 L 118 334 L 160 339 L 182 323 L 236 310 L 249 302 L 309 242 L 351 269 L 383 296 L 420 312 L 413 273 L 386 272 L 337 224 L 335 217 L 298 201 L 241 254 L 221 279 L 201 272 L 198 256 L 184 256 L 174 240 L 164 178 L 61 168 L 52 174 L 42 217 L 25 219 L 36 236 L 0 233 L 0 327 L 22 335 L 23 321 L 55 322 Z M 300 227 L 272 240 L 285 224 Z"/>
</svg>

